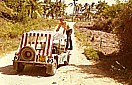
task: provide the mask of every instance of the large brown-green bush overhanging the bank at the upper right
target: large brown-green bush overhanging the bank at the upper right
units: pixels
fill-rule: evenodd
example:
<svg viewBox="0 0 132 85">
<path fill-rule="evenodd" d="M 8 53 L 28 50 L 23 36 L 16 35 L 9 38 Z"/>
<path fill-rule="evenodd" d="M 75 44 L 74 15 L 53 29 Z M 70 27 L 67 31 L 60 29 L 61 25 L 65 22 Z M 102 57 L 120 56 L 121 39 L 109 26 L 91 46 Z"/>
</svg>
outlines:
<svg viewBox="0 0 132 85">
<path fill-rule="evenodd" d="M 99 15 L 100 18 L 93 29 L 116 33 L 121 52 L 130 52 L 132 47 L 132 1 L 105 6 Z"/>
</svg>

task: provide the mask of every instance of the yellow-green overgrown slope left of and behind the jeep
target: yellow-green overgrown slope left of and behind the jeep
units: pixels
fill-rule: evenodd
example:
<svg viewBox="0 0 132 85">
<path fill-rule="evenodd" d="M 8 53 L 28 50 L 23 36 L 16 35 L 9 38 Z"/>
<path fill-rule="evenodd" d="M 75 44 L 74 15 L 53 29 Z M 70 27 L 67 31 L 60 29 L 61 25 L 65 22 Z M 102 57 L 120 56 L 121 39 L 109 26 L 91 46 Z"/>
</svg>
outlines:
<svg viewBox="0 0 132 85">
<path fill-rule="evenodd" d="M 20 37 L 24 32 L 30 30 L 53 30 L 58 24 L 54 19 L 30 18 L 26 14 L 22 14 L 23 11 L 16 11 L 13 2 L 10 4 L 12 5 L 8 6 L 7 3 L 0 2 L 1 53 L 17 49 Z"/>
</svg>

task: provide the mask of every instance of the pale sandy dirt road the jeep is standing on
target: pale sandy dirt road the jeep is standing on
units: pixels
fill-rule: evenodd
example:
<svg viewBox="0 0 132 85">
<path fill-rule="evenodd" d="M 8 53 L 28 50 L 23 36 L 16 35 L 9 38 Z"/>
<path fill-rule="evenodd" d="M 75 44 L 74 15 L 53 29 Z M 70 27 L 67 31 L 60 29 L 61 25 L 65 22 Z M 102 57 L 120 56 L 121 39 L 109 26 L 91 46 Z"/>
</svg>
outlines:
<svg viewBox="0 0 132 85">
<path fill-rule="evenodd" d="M 74 23 L 70 23 L 73 25 Z M 82 54 L 83 50 L 72 36 L 74 48 L 70 52 L 70 64 L 57 69 L 54 76 L 47 76 L 42 67 L 28 66 L 22 73 L 13 70 L 14 53 L 0 59 L 1 85 L 122 85 L 115 80 L 105 77 L 105 73 L 97 69 L 93 62 L 88 61 Z"/>
</svg>

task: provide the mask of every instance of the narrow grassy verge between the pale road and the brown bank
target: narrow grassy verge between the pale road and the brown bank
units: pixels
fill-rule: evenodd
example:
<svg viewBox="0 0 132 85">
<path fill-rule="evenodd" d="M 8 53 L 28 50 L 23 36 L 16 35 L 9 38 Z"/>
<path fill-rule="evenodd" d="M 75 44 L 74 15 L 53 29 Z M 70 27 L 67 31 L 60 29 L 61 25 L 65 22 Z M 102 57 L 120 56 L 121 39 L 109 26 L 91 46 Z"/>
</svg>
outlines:
<svg viewBox="0 0 132 85">
<path fill-rule="evenodd" d="M 80 46 L 84 48 L 84 55 L 88 60 L 99 60 L 99 55 L 96 50 L 88 43 L 90 38 L 86 32 L 81 31 L 80 29 L 75 29 L 75 36 L 78 39 Z"/>
</svg>

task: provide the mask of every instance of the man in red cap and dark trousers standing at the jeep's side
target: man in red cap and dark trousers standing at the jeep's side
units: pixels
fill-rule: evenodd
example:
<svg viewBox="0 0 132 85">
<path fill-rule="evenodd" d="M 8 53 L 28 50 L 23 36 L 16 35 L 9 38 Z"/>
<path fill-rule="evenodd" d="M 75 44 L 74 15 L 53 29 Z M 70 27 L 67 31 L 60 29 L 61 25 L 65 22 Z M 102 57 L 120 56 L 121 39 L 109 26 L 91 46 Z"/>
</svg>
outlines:
<svg viewBox="0 0 132 85">
<path fill-rule="evenodd" d="M 70 29 L 69 25 L 67 25 L 67 23 L 64 22 L 63 18 L 60 18 L 60 23 L 58 25 L 58 28 L 56 29 L 56 32 L 59 31 L 60 27 L 64 28 L 63 34 L 66 31 L 66 35 L 67 35 L 66 50 L 72 50 L 73 49 L 72 40 L 71 40 L 72 29 Z M 70 44 L 70 48 L 68 49 L 69 44 Z"/>
</svg>

